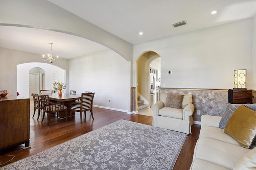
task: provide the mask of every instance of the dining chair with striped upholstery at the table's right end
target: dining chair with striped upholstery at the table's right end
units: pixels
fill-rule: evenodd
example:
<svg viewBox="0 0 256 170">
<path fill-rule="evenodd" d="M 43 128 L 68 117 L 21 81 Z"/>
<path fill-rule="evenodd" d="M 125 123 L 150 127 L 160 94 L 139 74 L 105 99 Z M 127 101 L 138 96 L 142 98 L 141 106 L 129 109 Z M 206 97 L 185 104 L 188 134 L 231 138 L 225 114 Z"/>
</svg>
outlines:
<svg viewBox="0 0 256 170">
<path fill-rule="evenodd" d="M 71 111 L 80 112 L 80 119 L 82 123 L 82 112 L 84 111 L 84 116 L 86 116 L 86 111 L 90 111 L 92 119 L 94 120 L 92 113 L 92 103 L 95 93 L 82 93 L 80 103 L 70 102 L 70 117 Z"/>
</svg>

